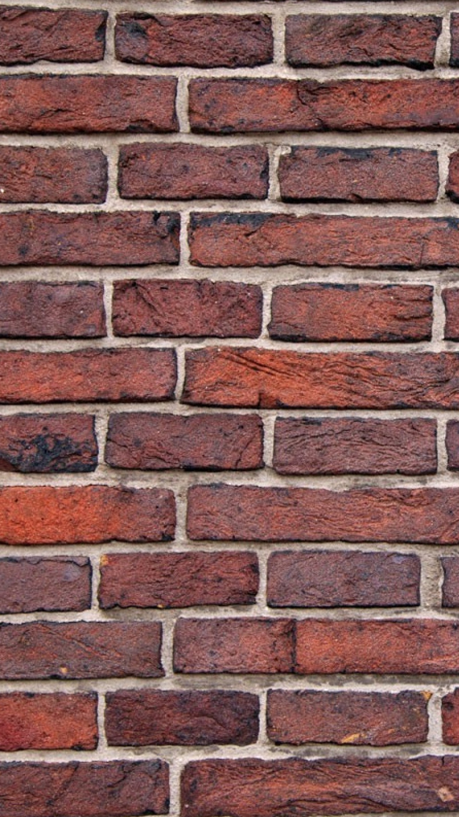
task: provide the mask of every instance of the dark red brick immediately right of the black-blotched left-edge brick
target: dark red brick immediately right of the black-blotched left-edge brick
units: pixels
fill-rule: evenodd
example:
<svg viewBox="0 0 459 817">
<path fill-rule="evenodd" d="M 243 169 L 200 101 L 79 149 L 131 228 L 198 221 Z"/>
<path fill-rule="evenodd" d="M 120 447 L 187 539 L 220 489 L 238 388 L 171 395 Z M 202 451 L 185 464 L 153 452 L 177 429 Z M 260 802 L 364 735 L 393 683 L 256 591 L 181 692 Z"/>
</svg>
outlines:
<svg viewBox="0 0 459 817">
<path fill-rule="evenodd" d="M 151 471 L 261 468 L 263 423 L 256 414 L 111 414 L 105 461 Z"/>
</svg>

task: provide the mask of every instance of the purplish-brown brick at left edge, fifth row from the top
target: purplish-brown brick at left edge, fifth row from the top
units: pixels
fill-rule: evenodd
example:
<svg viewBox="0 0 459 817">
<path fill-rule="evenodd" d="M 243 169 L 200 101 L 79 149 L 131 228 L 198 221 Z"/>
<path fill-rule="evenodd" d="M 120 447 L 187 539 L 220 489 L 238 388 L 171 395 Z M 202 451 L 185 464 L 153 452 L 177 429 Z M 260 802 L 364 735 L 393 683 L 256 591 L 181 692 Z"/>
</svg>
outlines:
<svg viewBox="0 0 459 817">
<path fill-rule="evenodd" d="M 0 282 L 0 337 L 105 335 L 102 284 Z"/>
</svg>

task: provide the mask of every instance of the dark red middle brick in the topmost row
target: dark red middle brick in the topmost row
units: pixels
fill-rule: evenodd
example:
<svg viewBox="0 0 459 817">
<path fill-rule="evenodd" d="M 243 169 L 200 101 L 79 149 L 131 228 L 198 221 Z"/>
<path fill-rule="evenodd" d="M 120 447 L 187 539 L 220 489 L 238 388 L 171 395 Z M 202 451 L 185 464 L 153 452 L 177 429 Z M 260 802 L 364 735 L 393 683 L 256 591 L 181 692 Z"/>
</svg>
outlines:
<svg viewBox="0 0 459 817">
<path fill-rule="evenodd" d="M 117 17 L 118 60 L 149 65 L 243 68 L 273 59 L 267 15 L 126 13 Z"/>
</svg>

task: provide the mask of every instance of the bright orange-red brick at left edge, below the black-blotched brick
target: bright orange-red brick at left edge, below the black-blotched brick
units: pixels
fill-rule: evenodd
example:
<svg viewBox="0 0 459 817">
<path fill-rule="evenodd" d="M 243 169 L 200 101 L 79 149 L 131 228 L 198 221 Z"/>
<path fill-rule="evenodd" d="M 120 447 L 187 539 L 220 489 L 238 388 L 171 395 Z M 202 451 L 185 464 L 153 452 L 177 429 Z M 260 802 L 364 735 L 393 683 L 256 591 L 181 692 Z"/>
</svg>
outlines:
<svg viewBox="0 0 459 817">
<path fill-rule="evenodd" d="M 164 489 L 0 489 L 0 542 L 7 545 L 162 542 L 174 529 L 174 495 Z"/>
</svg>

